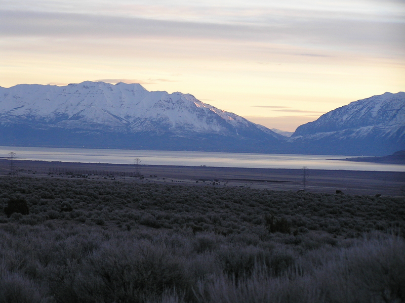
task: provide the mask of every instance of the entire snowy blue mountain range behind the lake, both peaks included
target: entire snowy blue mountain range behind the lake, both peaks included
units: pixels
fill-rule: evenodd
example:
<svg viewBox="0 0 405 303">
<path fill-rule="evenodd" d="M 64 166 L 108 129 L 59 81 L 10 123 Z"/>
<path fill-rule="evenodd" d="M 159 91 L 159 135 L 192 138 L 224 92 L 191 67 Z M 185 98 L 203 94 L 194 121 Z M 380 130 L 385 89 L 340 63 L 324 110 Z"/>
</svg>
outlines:
<svg viewBox="0 0 405 303">
<path fill-rule="evenodd" d="M 0 87 L 4 146 L 384 155 L 405 149 L 404 135 L 404 93 L 352 102 L 291 135 L 140 84 Z"/>
</svg>

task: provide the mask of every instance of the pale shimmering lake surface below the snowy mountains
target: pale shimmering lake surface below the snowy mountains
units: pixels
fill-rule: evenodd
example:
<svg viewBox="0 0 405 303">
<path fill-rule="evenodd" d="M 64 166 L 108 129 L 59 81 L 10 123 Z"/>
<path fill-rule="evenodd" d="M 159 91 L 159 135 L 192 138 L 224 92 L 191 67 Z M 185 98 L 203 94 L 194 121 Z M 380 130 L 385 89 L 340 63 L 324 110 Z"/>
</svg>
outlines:
<svg viewBox="0 0 405 303">
<path fill-rule="evenodd" d="M 10 152 L 21 160 L 83 163 L 134 164 L 139 158 L 140 165 L 405 171 L 405 165 L 329 160 L 349 156 L 0 146 L 0 157 Z"/>
</svg>

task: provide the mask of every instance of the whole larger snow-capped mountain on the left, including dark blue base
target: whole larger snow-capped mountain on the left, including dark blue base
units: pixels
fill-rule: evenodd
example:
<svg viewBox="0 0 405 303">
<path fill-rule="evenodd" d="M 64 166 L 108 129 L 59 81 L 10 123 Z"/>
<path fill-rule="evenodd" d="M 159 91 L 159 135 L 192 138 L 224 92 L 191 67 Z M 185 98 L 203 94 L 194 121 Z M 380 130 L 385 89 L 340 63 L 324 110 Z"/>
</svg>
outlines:
<svg viewBox="0 0 405 303">
<path fill-rule="evenodd" d="M 262 125 L 205 104 L 190 94 L 148 92 L 140 84 L 122 82 L 0 87 L 0 127 L 0 144 L 13 143 L 8 140 L 12 139 L 17 145 L 31 142 L 54 146 L 60 144 L 60 140 L 52 138 L 57 133 L 64 138 L 63 146 L 102 147 L 95 143 L 104 142 L 106 147 L 116 148 L 147 148 L 145 140 L 156 136 L 162 149 L 176 148 L 174 142 L 165 146 L 164 141 L 170 138 L 180 146 L 188 145 L 184 138 L 212 136 L 230 140 L 228 143 L 282 139 Z M 96 137 L 99 139 L 95 141 Z M 152 145 L 159 148 L 159 144 Z"/>
</svg>

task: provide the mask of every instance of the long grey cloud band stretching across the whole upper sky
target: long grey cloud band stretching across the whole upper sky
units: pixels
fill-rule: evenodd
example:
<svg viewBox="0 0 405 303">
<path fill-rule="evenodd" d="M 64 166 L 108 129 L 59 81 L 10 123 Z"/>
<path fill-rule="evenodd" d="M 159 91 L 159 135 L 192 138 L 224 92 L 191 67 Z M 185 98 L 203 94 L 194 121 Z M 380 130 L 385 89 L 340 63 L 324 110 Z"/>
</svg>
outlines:
<svg viewBox="0 0 405 303">
<path fill-rule="evenodd" d="M 281 15 L 275 13 L 281 12 Z M 158 20 L 101 14 L 0 10 L 0 36 L 49 36 L 74 38 L 183 38 L 256 41 L 264 44 L 319 46 L 319 52 L 300 52 L 296 56 L 323 57 L 330 52 L 387 53 L 403 57 L 405 20 L 355 19 L 344 15 L 292 10 L 269 10 L 266 20 L 254 15 L 251 22 Z M 283 15 L 284 13 L 284 15 Z M 256 18 L 256 19 L 255 19 Z M 394 51 L 394 52 L 393 52 Z M 393 54 L 392 54 L 393 53 Z"/>
</svg>

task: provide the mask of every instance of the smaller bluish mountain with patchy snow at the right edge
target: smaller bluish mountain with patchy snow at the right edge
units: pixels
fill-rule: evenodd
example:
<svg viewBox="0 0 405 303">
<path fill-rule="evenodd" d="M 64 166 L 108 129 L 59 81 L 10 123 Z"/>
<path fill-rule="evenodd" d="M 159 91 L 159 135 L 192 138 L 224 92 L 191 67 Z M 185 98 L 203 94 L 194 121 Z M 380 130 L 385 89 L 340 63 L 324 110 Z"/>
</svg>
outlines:
<svg viewBox="0 0 405 303">
<path fill-rule="evenodd" d="M 297 128 L 289 143 L 302 151 L 387 155 L 405 147 L 405 93 L 351 102 Z"/>
</svg>

